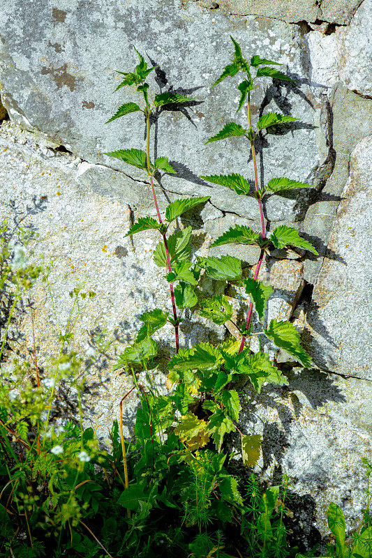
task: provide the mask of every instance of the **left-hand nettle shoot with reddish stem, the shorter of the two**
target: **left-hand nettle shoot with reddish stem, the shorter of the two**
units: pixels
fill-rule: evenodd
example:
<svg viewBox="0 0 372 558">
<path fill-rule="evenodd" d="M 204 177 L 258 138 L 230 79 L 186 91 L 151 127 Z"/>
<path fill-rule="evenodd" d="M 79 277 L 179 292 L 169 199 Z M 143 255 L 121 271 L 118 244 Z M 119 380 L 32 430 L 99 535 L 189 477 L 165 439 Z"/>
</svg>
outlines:
<svg viewBox="0 0 372 558">
<path fill-rule="evenodd" d="M 190 269 L 191 227 L 187 227 L 181 232 L 172 234 L 169 237 L 167 236 L 167 230 L 170 223 L 181 216 L 182 213 L 193 209 L 193 207 L 199 204 L 207 202 L 207 199 L 209 199 L 209 196 L 177 199 L 167 207 L 165 211 L 165 219 L 162 219 L 161 212 L 158 207 L 158 200 L 156 199 L 154 178 L 156 177 L 156 172 L 163 171 L 167 174 L 174 174 L 176 171 L 172 165 L 170 165 L 167 157 L 157 157 L 153 163 L 151 162 L 151 115 L 158 112 L 162 107 L 169 105 L 174 105 L 175 107 L 176 105 L 190 103 L 193 99 L 180 95 L 179 93 L 174 93 L 174 91 L 155 94 L 146 80 L 149 74 L 153 70 L 156 70 L 158 66 L 151 66 L 151 68 L 147 68 L 147 62 L 144 61 L 144 56 L 142 56 L 142 54 L 140 54 L 137 50 L 135 50 L 135 52 L 137 52 L 139 63 L 135 66 L 135 70 L 133 72 L 118 72 L 119 74 L 124 75 L 124 80 L 117 86 L 115 91 L 118 91 L 121 87 L 135 85 L 137 87 L 137 91 L 142 93 L 143 96 L 142 107 L 137 105 L 137 103 L 125 103 L 119 107 L 119 110 L 114 114 L 114 116 L 107 120 L 107 123 L 112 122 L 121 116 L 132 114 L 133 112 L 142 112 L 146 122 L 146 152 L 141 149 L 132 148 L 112 151 L 110 153 L 105 153 L 105 155 L 110 155 L 124 161 L 124 163 L 127 163 L 128 165 L 133 165 L 134 167 L 143 169 L 149 176 L 158 222 L 156 222 L 156 220 L 152 217 L 142 217 L 138 219 L 137 223 L 135 223 L 133 227 L 131 227 L 126 236 L 148 229 L 155 229 L 163 237 L 163 243 L 159 244 L 154 252 L 154 262 L 158 266 L 165 267 L 168 270 L 167 280 L 170 283 L 170 297 L 172 300 L 173 317 L 171 318 L 168 313 L 162 312 L 162 310 L 145 312 L 141 316 L 145 325 L 141 328 L 135 344 L 127 349 L 125 354 L 122 355 L 121 361 L 119 361 L 120 366 L 118 365 L 117 368 L 121 368 L 121 366 L 124 366 L 127 362 L 143 363 L 154 358 L 154 356 L 156 356 L 156 343 L 151 338 L 151 335 L 165 325 L 167 321 L 174 326 L 176 352 L 178 353 L 179 324 L 181 323 L 181 317 L 177 315 L 177 307 L 184 310 L 184 308 L 195 306 L 197 298 L 193 290 L 193 286 L 196 285 L 198 281 L 197 278 L 195 278 L 195 272 Z M 179 283 L 177 287 L 174 288 L 173 284 L 177 281 Z M 144 327 L 147 327 L 146 335 L 141 333 Z"/>
</svg>

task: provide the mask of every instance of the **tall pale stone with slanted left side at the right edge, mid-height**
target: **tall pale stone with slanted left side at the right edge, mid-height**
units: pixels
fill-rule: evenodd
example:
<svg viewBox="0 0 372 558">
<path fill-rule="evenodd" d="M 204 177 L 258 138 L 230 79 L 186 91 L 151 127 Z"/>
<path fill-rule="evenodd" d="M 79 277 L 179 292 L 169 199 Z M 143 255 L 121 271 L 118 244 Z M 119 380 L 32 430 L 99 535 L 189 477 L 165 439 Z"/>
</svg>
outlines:
<svg viewBox="0 0 372 558">
<path fill-rule="evenodd" d="M 371 191 L 372 137 L 355 147 L 304 339 L 320 368 L 372 379 Z"/>
</svg>

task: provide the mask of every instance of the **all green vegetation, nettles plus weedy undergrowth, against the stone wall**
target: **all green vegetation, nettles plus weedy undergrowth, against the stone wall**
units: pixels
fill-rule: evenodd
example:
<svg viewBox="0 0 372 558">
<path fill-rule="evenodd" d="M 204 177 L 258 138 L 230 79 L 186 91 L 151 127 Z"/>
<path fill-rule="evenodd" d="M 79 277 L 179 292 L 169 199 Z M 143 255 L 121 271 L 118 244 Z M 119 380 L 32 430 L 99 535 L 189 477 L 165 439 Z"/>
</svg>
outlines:
<svg viewBox="0 0 372 558">
<path fill-rule="evenodd" d="M 107 442 L 98 439 L 94 428 L 86 428 L 83 417 L 84 386 L 89 366 L 98 354 L 87 359 L 73 350 L 75 324 L 94 299 L 93 292 L 75 288 L 70 292 L 68 320 L 59 323 L 57 303 L 50 282 L 51 267 L 30 263 L 27 244 L 37 239 L 3 223 L 1 241 L 1 386 L 0 386 L 0 557 L 184 557 L 184 558 L 301 558 L 292 533 L 290 480 L 278 485 L 262 483 L 253 469 L 262 452 L 262 436 L 247 432 L 241 424 L 244 397 L 241 386 L 250 382 L 260 393 L 265 384 L 287 384 L 276 356 L 288 356 L 290 363 L 313 367 L 311 356 L 290 321 L 268 319 L 268 301 L 274 289 L 260 280 L 265 257 L 274 249 L 297 250 L 304 259 L 316 257 L 314 246 L 286 225 L 270 234 L 265 223 L 265 202 L 271 195 L 293 190 L 302 195 L 311 184 L 278 176 L 262 185 L 258 181 L 255 142 L 258 137 L 290 126 L 297 118 L 269 112 L 253 126 L 251 91 L 262 78 L 292 79 L 276 70 L 278 64 L 255 55 L 244 59 L 232 39 L 231 63 L 214 86 L 228 77 L 243 74 L 237 85 L 239 105 L 246 106 L 247 127 L 229 122 L 206 141 L 210 144 L 240 137 L 253 161 L 254 181 L 242 174 L 209 174 L 200 179 L 225 186 L 244 200 L 257 202 L 260 230 L 236 225 L 223 232 L 213 246 L 253 245 L 259 248 L 258 262 L 251 269 L 230 255 L 193 256 L 191 227 L 181 227 L 179 218 L 198 211 L 209 196 L 174 199 L 161 211 L 157 193 L 164 174 L 177 174 L 168 157 L 151 160 L 151 124 L 169 110 L 187 110 L 195 99 L 176 91 L 155 93 L 147 78 L 157 67 L 147 65 L 137 52 L 138 63 L 131 72 L 119 72 L 135 100 L 124 103 L 107 123 L 142 112 L 146 151 L 137 147 L 107 153 L 125 165 L 135 166 L 149 181 L 154 214 L 139 218 L 126 236 L 153 230 L 160 242 L 154 263 L 164 271 L 163 286 L 170 292 L 169 308 L 155 308 L 140 316 L 142 326 L 135 341 L 119 356 L 112 375 L 121 370 L 132 387 L 123 393 L 119 421 L 108 428 Z M 212 88 L 213 89 L 213 88 Z M 212 95 L 213 93 L 211 93 Z M 140 100 L 139 100 L 140 99 Z M 164 110 L 166 109 L 166 110 Z M 143 129 L 138 130 L 138 143 Z M 228 191 L 228 190 L 227 190 Z M 203 292 L 204 278 L 216 292 L 246 295 L 239 322 L 226 294 Z M 52 301 L 59 344 L 51 347 L 55 356 L 41 368 L 38 351 L 29 359 L 12 362 L 9 331 L 17 310 L 37 282 L 45 283 Z M 167 284 L 168 283 L 168 284 Z M 31 312 L 33 312 L 31 308 Z M 211 327 L 232 322 L 237 337 L 212 344 L 199 342 L 182 346 L 182 328 L 193 312 Z M 33 315 L 34 316 L 34 315 Z M 154 379 L 158 363 L 158 342 L 154 334 L 170 324 L 174 347 L 166 363 L 166 388 Z M 36 324 L 37 327 L 37 324 Z M 103 342 L 103 345 L 105 343 Z M 107 347 L 101 347 L 104 352 Z M 8 355 L 5 359 L 4 356 Z M 274 356 L 272 356 L 274 354 Z M 283 360 L 283 359 L 282 359 Z M 140 377 L 142 380 L 140 380 Z M 59 393 L 75 401 L 75 416 L 59 416 Z M 137 397 L 135 424 L 124 436 L 124 408 L 129 395 Z M 58 418 L 59 417 L 59 418 Z M 239 439 L 239 450 L 228 442 Z M 237 464 L 239 466 L 237 467 Z M 366 508 L 360 525 L 346 537 L 341 508 L 329 504 L 328 525 L 332 532 L 325 552 L 336 558 L 371 556 L 371 464 L 366 470 Z M 239 476 L 234 474 L 240 471 Z M 301 554 L 302 552 L 302 554 Z M 307 556 L 318 556 L 313 548 Z"/>
</svg>

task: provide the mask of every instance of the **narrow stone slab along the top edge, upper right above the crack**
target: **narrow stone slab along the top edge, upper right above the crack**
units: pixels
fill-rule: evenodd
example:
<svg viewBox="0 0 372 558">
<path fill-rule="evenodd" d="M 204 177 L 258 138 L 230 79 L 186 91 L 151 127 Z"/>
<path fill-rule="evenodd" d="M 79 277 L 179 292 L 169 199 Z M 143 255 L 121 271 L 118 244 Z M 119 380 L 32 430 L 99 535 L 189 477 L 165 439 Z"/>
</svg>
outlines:
<svg viewBox="0 0 372 558">
<path fill-rule="evenodd" d="M 219 4 L 231 13 L 240 15 L 263 15 L 289 23 L 321 20 L 345 25 L 350 23 L 352 15 L 359 6 L 359 1 L 299 0 L 283 3 L 281 0 L 262 0 L 260 2 L 254 0 L 221 0 Z"/>
</svg>

